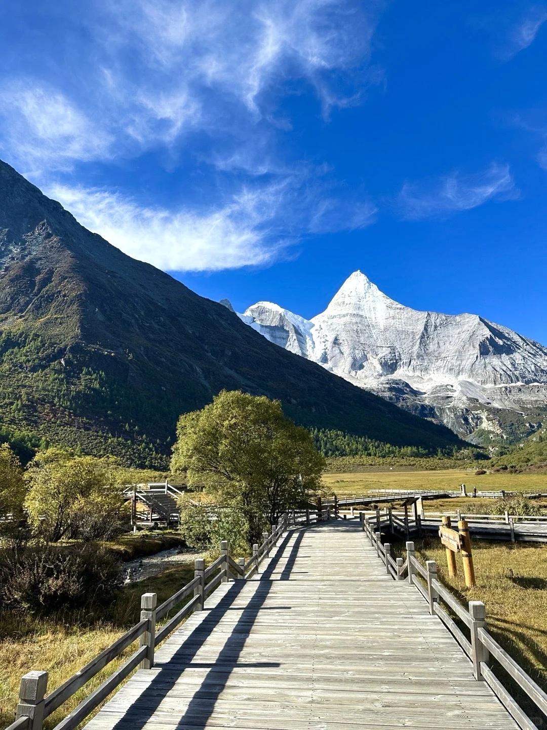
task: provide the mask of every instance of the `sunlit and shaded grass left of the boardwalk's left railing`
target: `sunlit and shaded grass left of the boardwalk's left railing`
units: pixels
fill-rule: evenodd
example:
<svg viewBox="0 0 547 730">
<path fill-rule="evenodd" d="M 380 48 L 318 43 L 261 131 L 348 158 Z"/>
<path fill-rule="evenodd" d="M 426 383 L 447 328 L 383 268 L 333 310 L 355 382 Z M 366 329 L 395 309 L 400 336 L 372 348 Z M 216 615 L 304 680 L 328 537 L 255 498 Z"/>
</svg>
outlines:
<svg viewBox="0 0 547 730">
<path fill-rule="evenodd" d="M 66 611 L 44 620 L 25 613 L 1 613 L 0 729 L 15 719 L 20 677 L 26 672 L 31 669 L 49 672 L 48 692 L 53 691 L 139 621 L 142 593 L 158 593 L 160 604 L 193 579 L 193 570 L 193 564 L 189 563 L 128 585 L 106 612 L 93 614 Z M 180 607 L 181 604 L 163 621 L 167 621 Z M 55 710 L 44 722 L 44 728 L 53 728 L 66 717 L 136 648 L 135 642 L 68 702 Z"/>
</svg>

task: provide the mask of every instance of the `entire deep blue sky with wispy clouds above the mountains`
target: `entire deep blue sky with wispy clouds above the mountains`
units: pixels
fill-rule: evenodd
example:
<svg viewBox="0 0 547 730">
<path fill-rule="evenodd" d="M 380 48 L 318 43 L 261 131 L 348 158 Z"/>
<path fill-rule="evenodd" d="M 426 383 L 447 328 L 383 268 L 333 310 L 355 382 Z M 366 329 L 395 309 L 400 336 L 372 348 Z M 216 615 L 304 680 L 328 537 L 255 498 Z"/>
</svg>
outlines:
<svg viewBox="0 0 547 730">
<path fill-rule="evenodd" d="M 211 299 L 547 344 L 547 4 L 4 0 L 0 156 Z"/>
</svg>

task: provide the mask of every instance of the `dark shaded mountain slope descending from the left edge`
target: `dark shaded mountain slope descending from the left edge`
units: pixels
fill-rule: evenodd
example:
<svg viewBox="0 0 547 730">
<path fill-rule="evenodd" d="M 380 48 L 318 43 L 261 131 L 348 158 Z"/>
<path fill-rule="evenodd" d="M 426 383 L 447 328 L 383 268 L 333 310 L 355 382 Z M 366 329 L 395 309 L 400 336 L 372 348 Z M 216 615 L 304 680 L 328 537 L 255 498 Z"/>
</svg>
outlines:
<svg viewBox="0 0 547 730">
<path fill-rule="evenodd" d="M 267 342 L 222 304 L 90 233 L 0 162 L 4 425 L 152 465 L 179 414 L 222 388 L 280 399 L 305 426 L 430 449 L 461 443 Z"/>
</svg>

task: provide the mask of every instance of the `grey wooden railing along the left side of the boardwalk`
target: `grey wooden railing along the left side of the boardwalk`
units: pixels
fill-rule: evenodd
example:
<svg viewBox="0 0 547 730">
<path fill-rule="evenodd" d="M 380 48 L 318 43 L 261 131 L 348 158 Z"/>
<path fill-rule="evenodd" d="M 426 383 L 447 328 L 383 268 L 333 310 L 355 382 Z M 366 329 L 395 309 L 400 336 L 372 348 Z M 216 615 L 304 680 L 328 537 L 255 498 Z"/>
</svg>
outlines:
<svg viewBox="0 0 547 730">
<path fill-rule="evenodd" d="M 306 515 L 306 512 L 304 512 L 304 515 Z M 306 519 L 306 516 L 304 519 Z M 294 522 L 294 518 L 292 521 Z M 190 583 L 187 583 L 159 606 L 157 605 L 156 593 L 144 593 L 141 596 L 141 620 L 139 623 L 131 626 L 131 629 L 125 631 L 123 636 L 116 639 L 113 644 L 101 651 L 98 656 L 47 696 L 47 672 L 28 672 L 21 679 L 20 701 L 17 707 L 16 720 L 6 730 L 42 730 L 45 718 L 74 696 L 107 664 L 119 657 L 136 639 L 139 639 L 139 648 L 98 688 L 82 700 L 54 729 L 74 730 L 123 682 L 125 677 L 133 672 L 136 666 L 151 669 L 154 666 L 154 652 L 158 644 L 166 639 L 187 615 L 193 611 L 203 610 L 205 599 L 221 583 L 228 582 L 230 577 L 236 580 L 245 580 L 255 575 L 260 564 L 270 555 L 271 548 L 276 545 L 289 523 L 288 515 L 284 515 L 279 521 L 279 525 L 274 526 L 271 534 L 263 533 L 262 544 L 252 546 L 252 556 L 247 562 L 244 558 L 238 558 L 238 562 L 234 561 L 228 550 L 228 542 L 221 542 L 220 557 L 207 568 L 203 559 L 196 560 L 193 580 L 190 580 Z M 167 623 L 158 629 L 157 622 L 190 595 L 192 596 L 190 601 L 185 603 Z"/>
</svg>

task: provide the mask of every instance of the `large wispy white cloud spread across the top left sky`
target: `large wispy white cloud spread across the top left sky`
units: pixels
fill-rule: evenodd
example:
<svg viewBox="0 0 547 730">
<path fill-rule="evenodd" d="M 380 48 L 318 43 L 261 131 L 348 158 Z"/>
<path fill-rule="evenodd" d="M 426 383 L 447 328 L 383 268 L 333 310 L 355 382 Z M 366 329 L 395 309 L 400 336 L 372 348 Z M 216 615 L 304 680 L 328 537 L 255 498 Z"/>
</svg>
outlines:
<svg viewBox="0 0 547 730">
<path fill-rule="evenodd" d="M 382 1 L 92 0 L 81 12 L 93 63 L 79 58 L 78 84 L 65 58 L 56 88 L 39 69 L 0 80 L 4 148 L 49 169 L 55 157 L 131 157 L 197 131 L 237 153 L 258 122 L 262 135 L 290 125 L 277 118 L 287 83 L 305 83 L 328 112 L 378 81 L 367 69 Z"/>
</svg>

